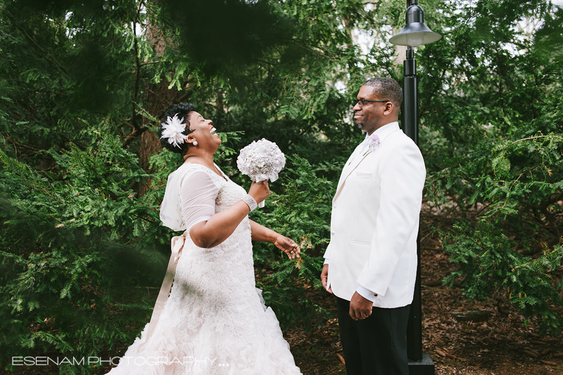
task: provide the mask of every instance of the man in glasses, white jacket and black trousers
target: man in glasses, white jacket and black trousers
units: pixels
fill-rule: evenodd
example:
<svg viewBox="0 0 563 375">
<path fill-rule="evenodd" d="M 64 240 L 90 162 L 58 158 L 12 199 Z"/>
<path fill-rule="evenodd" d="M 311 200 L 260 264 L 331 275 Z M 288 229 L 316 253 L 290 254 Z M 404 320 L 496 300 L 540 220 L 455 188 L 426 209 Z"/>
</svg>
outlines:
<svg viewBox="0 0 563 375">
<path fill-rule="evenodd" d="M 408 375 L 407 321 L 417 273 L 426 169 L 399 128 L 395 80 L 367 80 L 355 101 L 365 140 L 346 162 L 332 200 L 322 285 L 336 295 L 348 375 Z"/>
</svg>

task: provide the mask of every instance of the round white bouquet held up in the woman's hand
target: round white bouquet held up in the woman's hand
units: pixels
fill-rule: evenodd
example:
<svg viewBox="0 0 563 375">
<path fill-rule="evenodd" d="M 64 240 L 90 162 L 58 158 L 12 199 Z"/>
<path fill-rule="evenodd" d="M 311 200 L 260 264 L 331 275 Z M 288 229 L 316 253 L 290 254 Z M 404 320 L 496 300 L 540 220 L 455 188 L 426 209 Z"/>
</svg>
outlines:
<svg viewBox="0 0 563 375">
<path fill-rule="evenodd" d="M 253 141 L 250 145 L 241 149 L 239 158 L 236 159 L 236 166 L 243 175 L 247 175 L 256 183 L 263 180 L 270 180 L 272 183 L 277 180 L 277 175 L 281 168 L 286 165 L 286 156 L 274 142 L 262 138 Z M 258 204 L 264 207 L 264 202 Z"/>
</svg>

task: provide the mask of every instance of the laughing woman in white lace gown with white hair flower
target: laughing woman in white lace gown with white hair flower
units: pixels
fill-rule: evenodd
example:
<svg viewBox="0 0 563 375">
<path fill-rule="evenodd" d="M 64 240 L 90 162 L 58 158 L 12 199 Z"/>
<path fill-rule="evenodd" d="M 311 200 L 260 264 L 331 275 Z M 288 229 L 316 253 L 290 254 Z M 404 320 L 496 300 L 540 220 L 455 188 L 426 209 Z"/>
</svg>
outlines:
<svg viewBox="0 0 563 375">
<path fill-rule="evenodd" d="M 213 163 L 221 144 L 213 122 L 193 104 L 172 106 L 159 136 L 185 160 L 170 173 L 160 206 L 165 226 L 185 230 L 172 241 L 183 247 L 167 271 L 174 275 L 170 296 L 163 285 L 165 303 L 157 301 L 141 338 L 108 374 L 301 374 L 255 288 L 251 240 L 272 242 L 290 259 L 300 253 L 293 240 L 248 219 L 270 195 L 267 181 L 247 194 L 229 180 Z"/>
</svg>

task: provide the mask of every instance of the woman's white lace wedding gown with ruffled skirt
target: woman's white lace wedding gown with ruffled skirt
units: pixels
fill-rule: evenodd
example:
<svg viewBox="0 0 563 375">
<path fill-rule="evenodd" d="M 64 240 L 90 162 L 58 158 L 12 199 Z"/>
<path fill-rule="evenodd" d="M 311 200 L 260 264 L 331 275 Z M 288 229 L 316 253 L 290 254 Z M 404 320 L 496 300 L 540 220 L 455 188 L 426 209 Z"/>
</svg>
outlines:
<svg viewBox="0 0 563 375">
<path fill-rule="evenodd" d="M 185 163 L 168 178 L 160 217 L 166 226 L 189 233 L 244 195 L 224 174 Z M 203 249 L 186 238 L 151 336 L 146 338 L 147 324 L 108 374 L 301 374 L 257 290 L 248 216 L 216 247 Z"/>
</svg>

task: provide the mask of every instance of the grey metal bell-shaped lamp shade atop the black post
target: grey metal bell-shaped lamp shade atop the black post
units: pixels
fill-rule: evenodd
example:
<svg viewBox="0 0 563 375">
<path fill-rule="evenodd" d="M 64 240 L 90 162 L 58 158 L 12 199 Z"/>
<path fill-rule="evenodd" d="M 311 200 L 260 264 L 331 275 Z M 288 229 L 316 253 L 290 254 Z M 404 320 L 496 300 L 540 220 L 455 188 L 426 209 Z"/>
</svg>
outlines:
<svg viewBox="0 0 563 375">
<path fill-rule="evenodd" d="M 407 23 L 389 42 L 400 46 L 418 47 L 441 39 L 442 35 L 430 30 L 424 23 L 424 11 L 418 5 L 409 6 L 406 15 Z"/>
</svg>

